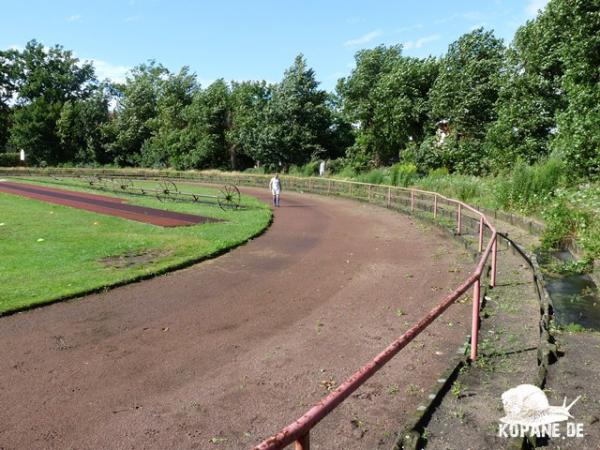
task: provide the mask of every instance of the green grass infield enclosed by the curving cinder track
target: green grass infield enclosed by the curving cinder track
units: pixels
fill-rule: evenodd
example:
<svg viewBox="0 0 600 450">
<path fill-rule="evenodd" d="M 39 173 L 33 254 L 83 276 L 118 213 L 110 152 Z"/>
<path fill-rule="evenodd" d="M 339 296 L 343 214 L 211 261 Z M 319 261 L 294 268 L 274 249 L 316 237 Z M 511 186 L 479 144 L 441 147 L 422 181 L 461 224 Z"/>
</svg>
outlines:
<svg viewBox="0 0 600 450">
<path fill-rule="evenodd" d="M 164 272 L 218 254 L 264 230 L 271 210 L 249 196 L 242 208 L 161 202 L 85 189 L 81 182 L 32 184 L 126 198 L 129 203 L 215 217 L 225 222 L 162 228 L 0 193 L 0 314 Z M 147 183 L 155 187 L 156 183 Z M 216 190 L 178 184 L 181 190 Z"/>
</svg>

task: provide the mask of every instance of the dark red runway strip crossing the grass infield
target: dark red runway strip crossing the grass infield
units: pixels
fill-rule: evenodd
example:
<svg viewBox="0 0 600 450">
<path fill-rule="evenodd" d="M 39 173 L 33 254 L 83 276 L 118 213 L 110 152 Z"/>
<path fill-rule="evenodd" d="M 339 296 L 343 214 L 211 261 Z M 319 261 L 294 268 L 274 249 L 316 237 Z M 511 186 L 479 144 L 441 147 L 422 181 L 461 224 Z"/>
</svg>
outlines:
<svg viewBox="0 0 600 450">
<path fill-rule="evenodd" d="M 0 192 L 21 195 L 48 203 L 85 209 L 98 214 L 123 217 L 138 222 L 150 223 L 161 227 L 177 227 L 216 222 L 217 219 L 196 216 L 156 208 L 128 205 L 124 199 L 95 195 L 86 192 L 67 191 L 34 184 L 0 182 Z"/>
</svg>

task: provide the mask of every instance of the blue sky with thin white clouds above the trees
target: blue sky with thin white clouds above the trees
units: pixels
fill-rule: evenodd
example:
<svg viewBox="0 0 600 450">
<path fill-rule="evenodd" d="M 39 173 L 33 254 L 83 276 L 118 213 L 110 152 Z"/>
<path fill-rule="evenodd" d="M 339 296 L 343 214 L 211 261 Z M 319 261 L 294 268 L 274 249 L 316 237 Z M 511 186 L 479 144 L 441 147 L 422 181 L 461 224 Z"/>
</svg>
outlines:
<svg viewBox="0 0 600 450">
<path fill-rule="evenodd" d="M 360 49 L 402 44 L 407 56 L 440 56 L 481 26 L 510 43 L 547 1 L 0 0 L 0 48 L 59 44 L 113 81 L 153 59 L 173 72 L 189 66 L 203 86 L 277 82 L 302 53 L 333 90 Z"/>
</svg>

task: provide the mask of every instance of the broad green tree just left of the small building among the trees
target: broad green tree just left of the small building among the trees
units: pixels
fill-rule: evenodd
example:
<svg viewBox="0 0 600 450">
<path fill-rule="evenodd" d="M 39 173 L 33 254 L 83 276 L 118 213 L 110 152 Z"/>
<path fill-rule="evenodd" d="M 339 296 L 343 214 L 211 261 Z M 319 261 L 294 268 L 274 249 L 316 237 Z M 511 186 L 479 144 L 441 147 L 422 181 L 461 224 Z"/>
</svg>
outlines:
<svg viewBox="0 0 600 450">
<path fill-rule="evenodd" d="M 358 124 L 356 144 L 348 152 L 359 160 L 355 167 L 397 161 L 409 143 L 421 141 L 437 71 L 437 60 L 403 57 L 400 46 L 356 54 L 356 68 L 337 86 L 344 114 Z"/>
</svg>

